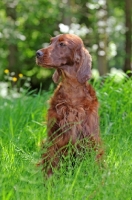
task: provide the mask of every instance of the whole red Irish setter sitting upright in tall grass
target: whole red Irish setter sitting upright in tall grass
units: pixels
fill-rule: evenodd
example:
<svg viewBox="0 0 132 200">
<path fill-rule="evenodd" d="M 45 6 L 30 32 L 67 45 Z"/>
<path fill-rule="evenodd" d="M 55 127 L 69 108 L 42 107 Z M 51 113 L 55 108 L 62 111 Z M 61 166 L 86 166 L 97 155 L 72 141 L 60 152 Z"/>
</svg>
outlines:
<svg viewBox="0 0 132 200">
<path fill-rule="evenodd" d="M 74 154 L 90 149 L 97 151 L 98 160 L 103 151 L 99 132 L 98 100 L 92 86 L 91 56 L 81 38 L 74 34 L 61 34 L 51 38 L 50 45 L 36 52 L 36 63 L 44 68 L 54 68 L 53 81 L 61 81 L 50 100 L 48 110 L 48 142 L 43 154 L 46 173 L 59 166 L 61 157 L 68 154 L 68 144 Z"/>
</svg>

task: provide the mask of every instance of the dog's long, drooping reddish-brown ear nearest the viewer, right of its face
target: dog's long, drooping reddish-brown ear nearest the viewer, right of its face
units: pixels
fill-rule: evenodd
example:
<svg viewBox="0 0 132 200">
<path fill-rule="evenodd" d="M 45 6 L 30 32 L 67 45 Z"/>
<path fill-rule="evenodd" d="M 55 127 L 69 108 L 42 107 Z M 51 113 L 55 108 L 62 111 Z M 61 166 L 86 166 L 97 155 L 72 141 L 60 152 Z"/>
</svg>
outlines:
<svg viewBox="0 0 132 200">
<path fill-rule="evenodd" d="M 79 54 L 81 54 L 81 57 L 78 56 L 78 60 L 80 58 L 80 62 L 79 68 L 77 70 L 77 80 L 83 84 L 91 78 L 92 58 L 89 52 L 84 47 L 82 47 L 80 51 L 81 52 Z"/>
</svg>

